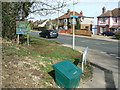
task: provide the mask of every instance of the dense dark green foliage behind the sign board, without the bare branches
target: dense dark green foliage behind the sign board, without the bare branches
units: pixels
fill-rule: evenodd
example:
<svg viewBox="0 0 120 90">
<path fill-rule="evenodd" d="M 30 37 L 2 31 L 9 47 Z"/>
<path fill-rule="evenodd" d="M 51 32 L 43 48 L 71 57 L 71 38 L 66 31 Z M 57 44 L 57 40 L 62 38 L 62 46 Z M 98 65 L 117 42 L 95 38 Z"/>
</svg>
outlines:
<svg viewBox="0 0 120 90">
<path fill-rule="evenodd" d="M 16 38 L 16 21 L 20 20 L 20 11 L 22 19 L 28 16 L 30 2 L 2 2 L 2 37 L 8 39 Z M 21 7 L 23 7 L 21 9 Z"/>
</svg>

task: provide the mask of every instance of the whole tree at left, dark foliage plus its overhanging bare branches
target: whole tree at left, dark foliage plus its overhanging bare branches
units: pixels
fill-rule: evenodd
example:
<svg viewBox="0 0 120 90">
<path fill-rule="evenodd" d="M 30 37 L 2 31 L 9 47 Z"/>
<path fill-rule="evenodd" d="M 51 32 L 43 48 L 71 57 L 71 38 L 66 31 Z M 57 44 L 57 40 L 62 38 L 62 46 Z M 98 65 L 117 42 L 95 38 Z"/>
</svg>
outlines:
<svg viewBox="0 0 120 90">
<path fill-rule="evenodd" d="M 62 11 L 65 6 L 65 1 L 60 2 L 57 0 L 42 0 L 39 2 L 2 2 L 2 37 L 15 39 L 16 21 L 24 21 L 30 13 L 46 16 L 55 13 L 58 9 Z"/>
</svg>

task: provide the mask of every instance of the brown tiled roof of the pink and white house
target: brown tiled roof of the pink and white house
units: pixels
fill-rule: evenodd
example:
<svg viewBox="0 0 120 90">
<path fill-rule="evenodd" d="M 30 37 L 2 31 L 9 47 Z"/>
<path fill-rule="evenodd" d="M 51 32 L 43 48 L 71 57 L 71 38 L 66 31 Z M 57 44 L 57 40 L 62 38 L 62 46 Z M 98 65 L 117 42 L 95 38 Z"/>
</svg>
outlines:
<svg viewBox="0 0 120 90">
<path fill-rule="evenodd" d="M 120 16 L 120 8 L 115 8 L 113 10 L 108 10 L 107 12 L 101 14 L 98 17 L 108 17 L 108 16 Z"/>
</svg>

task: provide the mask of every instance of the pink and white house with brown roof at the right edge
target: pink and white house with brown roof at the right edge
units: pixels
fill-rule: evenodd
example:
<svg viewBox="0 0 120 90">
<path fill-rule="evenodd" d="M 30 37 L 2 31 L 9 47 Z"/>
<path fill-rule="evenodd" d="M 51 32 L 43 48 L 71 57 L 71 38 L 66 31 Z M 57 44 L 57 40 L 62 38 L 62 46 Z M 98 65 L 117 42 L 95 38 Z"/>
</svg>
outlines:
<svg viewBox="0 0 120 90">
<path fill-rule="evenodd" d="M 102 8 L 102 14 L 97 17 L 98 31 L 97 34 L 101 34 L 104 31 L 113 31 L 120 27 L 120 8 L 113 10 L 107 10 Z"/>
</svg>

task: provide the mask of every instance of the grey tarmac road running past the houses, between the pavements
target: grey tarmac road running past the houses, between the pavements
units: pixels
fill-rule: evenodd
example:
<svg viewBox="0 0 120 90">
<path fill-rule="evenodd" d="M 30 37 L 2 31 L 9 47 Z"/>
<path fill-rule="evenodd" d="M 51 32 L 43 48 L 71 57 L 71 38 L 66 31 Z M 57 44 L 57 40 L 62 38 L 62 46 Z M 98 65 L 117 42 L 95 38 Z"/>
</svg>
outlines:
<svg viewBox="0 0 120 90">
<path fill-rule="evenodd" d="M 30 35 L 39 37 L 39 32 L 32 31 Z M 50 40 L 58 41 L 64 44 L 72 45 L 72 35 L 59 34 L 58 38 L 50 38 Z M 93 38 L 79 37 L 75 38 L 75 45 L 80 47 L 88 47 L 89 49 L 99 50 L 107 53 L 115 58 L 118 57 L 118 42 L 99 40 Z"/>
</svg>

